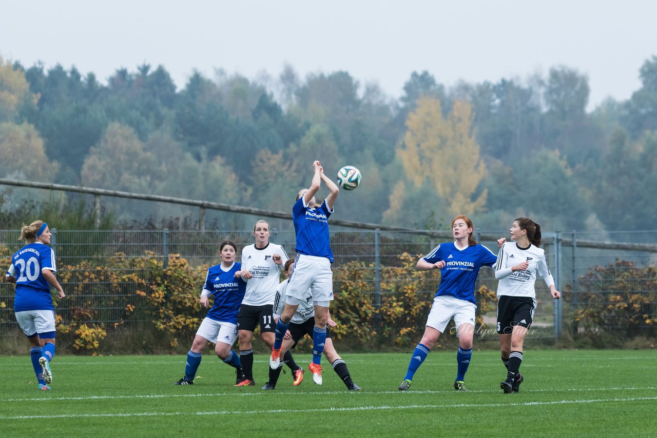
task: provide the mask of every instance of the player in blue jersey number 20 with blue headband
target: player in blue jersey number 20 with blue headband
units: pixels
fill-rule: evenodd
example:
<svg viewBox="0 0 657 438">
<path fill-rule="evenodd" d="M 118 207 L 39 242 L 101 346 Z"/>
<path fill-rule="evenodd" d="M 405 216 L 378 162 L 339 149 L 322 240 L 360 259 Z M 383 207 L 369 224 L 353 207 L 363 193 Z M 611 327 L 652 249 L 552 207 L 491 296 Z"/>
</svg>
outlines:
<svg viewBox="0 0 657 438">
<path fill-rule="evenodd" d="M 51 389 L 50 361 L 55 357 L 55 307 L 50 286 L 57 289 L 58 298 L 66 296 L 55 277 L 55 252 L 48 246 L 52 236 L 43 221 L 23 225 L 20 240 L 27 245 L 11 257 L 6 276 L 8 282 L 16 283 L 14 312 L 32 347 L 32 368 L 42 391 Z"/>
</svg>

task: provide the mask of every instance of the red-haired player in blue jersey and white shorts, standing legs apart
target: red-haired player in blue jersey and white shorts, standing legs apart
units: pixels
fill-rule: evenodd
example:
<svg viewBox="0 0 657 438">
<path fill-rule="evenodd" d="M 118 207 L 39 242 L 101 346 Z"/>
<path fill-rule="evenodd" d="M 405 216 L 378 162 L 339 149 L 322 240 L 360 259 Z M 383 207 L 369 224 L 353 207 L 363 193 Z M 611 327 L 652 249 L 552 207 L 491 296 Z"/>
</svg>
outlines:
<svg viewBox="0 0 657 438">
<path fill-rule="evenodd" d="M 474 225 L 468 217 L 457 215 L 451 221 L 451 228 L 454 242 L 436 246 L 432 252 L 417 262 L 417 269 L 420 271 L 441 270 L 440 286 L 426 320 L 424 335 L 411 355 L 411 362 L 403 382 L 399 385 L 399 391 L 409 389 L 415 372 L 438 341 L 440 334 L 445 331 L 452 317 L 459 338 L 454 389 L 467 391 L 464 380 L 472 357 L 476 311 L 474 283 L 479 269 L 482 266 L 493 266 L 497 261 L 497 255 L 486 246 L 474 241 L 472 236 Z"/>
</svg>

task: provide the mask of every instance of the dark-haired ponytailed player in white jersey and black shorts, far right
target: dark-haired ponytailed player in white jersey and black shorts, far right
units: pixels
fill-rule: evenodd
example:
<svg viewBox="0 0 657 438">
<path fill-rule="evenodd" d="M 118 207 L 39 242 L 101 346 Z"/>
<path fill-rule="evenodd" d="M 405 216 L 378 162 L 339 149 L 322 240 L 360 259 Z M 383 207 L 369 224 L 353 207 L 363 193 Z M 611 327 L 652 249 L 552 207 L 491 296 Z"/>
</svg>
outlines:
<svg viewBox="0 0 657 438">
<path fill-rule="evenodd" d="M 561 293 L 555 288 L 555 279 L 547 266 L 545 251 L 541 250 L 541 226 L 528 217 L 518 217 L 510 228 L 511 240 L 497 240 L 501 245 L 495 278 L 497 285 L 497 333 L 502 353 L 502 362 L 507 367 L 507 378 L 500 383 L 505 394 L 520 392 L 524 376 L 520 374 L 523 344 L 532 325 L 536 310 L 534 284 L 541 276 L 550 294 L 559 299 Z"/>
</svg>

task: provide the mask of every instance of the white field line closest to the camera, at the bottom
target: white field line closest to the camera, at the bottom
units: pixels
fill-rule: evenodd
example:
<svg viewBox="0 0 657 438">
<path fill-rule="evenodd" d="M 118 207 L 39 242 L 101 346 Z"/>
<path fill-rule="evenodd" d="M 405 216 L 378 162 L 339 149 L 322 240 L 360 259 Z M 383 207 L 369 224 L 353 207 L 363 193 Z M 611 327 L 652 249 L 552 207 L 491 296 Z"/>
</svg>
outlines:
<svg viewBox="0 0 657 438">
<path fill-rule="evenodd" d="M 144 417 L 144 416 L 181 416 L 181 415 L 244 415 L 244 414 L 303 414 L 309 412 L 350 412 L 365 410 L 399 410 L 399 409 L 426 409 L 426 408 L 491 408 L 508 406 L 545 406 L 545 405 L 577 405 L 581 403 L 614 403 L 657 400 L 657 397 L 631 397 L 613 399 L 589 400 L 561 400 L 561 401 L 532 401 L 526 403 L 459 403 L 455 405 L 406 405 L 406 406 L 355 406 L 351 408 L 317 408 L 317 409 L 269 409 L 269 410 L 214 410 L 209 412 L 126 412 L 117 414 L 59 414 L 59 415 L 17 415 L 0 417 L 0 420 L 27 420 L 32 418 L 116 418 L 116 417 Z"/>
</svg>

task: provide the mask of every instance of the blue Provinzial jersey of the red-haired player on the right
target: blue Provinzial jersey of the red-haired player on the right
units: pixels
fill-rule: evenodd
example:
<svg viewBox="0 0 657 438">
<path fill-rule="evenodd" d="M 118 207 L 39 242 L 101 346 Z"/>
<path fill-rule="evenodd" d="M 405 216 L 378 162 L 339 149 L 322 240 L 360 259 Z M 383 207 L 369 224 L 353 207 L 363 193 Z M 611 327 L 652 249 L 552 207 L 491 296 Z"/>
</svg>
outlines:
<svg viewBox="0 0 657 438">
<path fill-rule="evenodd" d="M 497 255 L 484 245 L 476 244 L 459 250 L 454 242 L 440 244 L 422 260 L 436 263 L 444 260 L 445 267 L 440 270 L 440 286 L 436 297 L 451 295 L 471 303 L 474 299 L 474 282 L 482 266 L 493 266 Z"/>
</svg>

